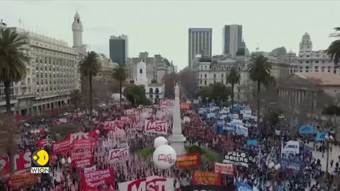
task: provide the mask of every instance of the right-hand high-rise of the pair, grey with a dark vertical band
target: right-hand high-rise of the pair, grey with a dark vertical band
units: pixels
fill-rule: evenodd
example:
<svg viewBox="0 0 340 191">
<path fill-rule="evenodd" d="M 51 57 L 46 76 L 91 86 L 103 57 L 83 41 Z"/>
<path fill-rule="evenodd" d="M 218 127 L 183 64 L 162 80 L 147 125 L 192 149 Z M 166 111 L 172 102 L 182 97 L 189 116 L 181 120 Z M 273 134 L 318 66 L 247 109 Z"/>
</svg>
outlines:
<svg viewBox="0 0 340 191">
<path fill-rule="evenodd" d="M 236 57 L 236 52 L 242 43 L 242 25 L 225 25 L 222 37 L 223 55 Z"/>
</svg>

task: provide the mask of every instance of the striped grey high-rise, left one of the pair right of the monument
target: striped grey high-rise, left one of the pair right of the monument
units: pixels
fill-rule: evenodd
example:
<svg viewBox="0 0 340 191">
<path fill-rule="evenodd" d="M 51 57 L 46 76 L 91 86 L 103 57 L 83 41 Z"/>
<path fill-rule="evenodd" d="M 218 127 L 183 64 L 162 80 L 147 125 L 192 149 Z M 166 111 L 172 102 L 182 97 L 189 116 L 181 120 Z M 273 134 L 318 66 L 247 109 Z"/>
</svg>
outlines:
<svg viewBox="0 0 340 191">
<path fill-rule="evenodd" d="M 193 68 L 192 62 L 196 54 L 206 54 L 211 57 L 212 28 L 189 28 L 188 66 Z"/>
</svg>

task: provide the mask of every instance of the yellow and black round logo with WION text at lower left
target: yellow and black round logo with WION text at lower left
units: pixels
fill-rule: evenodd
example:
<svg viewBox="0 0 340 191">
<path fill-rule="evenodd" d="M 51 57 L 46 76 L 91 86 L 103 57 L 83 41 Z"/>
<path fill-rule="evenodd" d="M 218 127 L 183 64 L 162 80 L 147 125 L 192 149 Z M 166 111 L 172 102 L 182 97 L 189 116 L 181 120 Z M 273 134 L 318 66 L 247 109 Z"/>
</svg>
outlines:
<svg viewBox="0 0 340 191">
<path fill-rule="evenodd" d="M 35 174 L 48 174 L 50 173 L 50 167 L 48 161 L 50 157 L 47 152 L 43 149 L 32 152 L 32 167 L 30 168 L 30 173 Z"/>
</svg>

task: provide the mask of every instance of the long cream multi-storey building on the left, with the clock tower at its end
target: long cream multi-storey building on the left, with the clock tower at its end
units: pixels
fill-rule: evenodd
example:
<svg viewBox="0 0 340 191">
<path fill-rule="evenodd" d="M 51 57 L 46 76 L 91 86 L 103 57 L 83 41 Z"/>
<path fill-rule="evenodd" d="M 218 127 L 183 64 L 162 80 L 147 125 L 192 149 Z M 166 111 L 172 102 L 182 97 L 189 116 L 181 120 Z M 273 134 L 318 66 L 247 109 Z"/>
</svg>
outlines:
<svg viewBox="0 0 340 191">
<path fill-rule="evenodd" d="M 80 89 L 78 62 L 86 52 L 82 45 L 82 24 L 79 14 L 74 16 L 72 30 L 74 47 L 67 42 L 21 28 L 11 28 L 28 39 L 26 54 L 27 76 L 13 85 L 11 110 L 20 115 L 33 115 L 43 110 L 60 108 L 70 104 L 70 93 Z M 0 85 L 0 112 L 5 112 L 3 85 Z"/>
</svg>

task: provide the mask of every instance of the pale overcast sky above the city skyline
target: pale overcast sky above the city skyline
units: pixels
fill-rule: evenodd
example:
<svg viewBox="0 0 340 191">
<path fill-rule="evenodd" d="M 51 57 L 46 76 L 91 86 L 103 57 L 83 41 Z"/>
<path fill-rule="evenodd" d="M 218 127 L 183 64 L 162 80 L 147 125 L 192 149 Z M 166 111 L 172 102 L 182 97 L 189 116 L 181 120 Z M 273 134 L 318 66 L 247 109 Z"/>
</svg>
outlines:
<svg viewBox="0 0 340 191">
<path fill-rule="evenodd" d="M 72 46 L 72 22 L 79 12 L 83 41 L 108 55 L 110 35 L 129 37 L 129 57 L 162 54 L 180 69 L 188 65 L 188 28 L 212 28 L 212 54 L 222 54 L 222 27 L 243 25 L 250 52 L 276 47 L 298 51 L 307 32 L 313 50 L 324 50 L 340 27 L 340 1 L 3 1 L 0 18 L 9 26 L 38 30 Z"/>
</svg>

